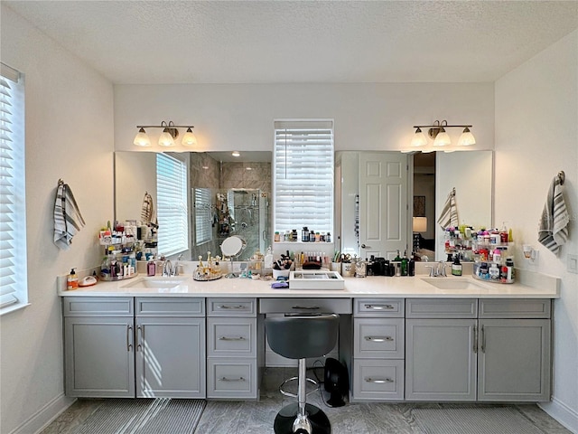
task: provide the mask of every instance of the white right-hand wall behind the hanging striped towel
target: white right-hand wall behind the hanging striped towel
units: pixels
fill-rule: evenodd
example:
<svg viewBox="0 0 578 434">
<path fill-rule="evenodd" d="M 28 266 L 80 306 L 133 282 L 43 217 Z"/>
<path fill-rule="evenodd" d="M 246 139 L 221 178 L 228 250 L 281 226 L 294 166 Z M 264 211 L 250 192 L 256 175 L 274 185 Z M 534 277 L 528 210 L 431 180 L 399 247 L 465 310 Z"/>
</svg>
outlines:
<svg viewBox="0 0 578 434">
<path fill-rule="evenodd" d="M 508 221 L 516 262 L 562 278 L 554 308 L 554 392 L 544 408 L 578 432 L 578 275 L 566 271 L 578 253 L 578 31 L 496 82 L 496 221 Z M 571 239 L 559 257 L 537 240 L 548 186 L 564 170 Z M 539 248 L 536 265 L 522 259 L 522 242 Z M 523 366 L 520 366 L 523 369 Z"/>
</svg>

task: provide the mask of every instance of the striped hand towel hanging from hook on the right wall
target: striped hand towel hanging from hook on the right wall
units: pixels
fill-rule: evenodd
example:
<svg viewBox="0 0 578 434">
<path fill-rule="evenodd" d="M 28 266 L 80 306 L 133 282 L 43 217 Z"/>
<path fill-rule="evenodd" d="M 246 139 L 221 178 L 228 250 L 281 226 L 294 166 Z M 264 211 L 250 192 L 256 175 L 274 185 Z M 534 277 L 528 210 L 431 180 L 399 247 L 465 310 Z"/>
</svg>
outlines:
<svg viewBox="0 0 578 434">
<path fill-rule="evenodd" d="M 555 176 L 548 188 L 544 210 L 538 223 L 538 241 L 555 255 L 568 241 L 568 223 L 570 215 L 566 210 L 560 177 Z"/>
</svg>

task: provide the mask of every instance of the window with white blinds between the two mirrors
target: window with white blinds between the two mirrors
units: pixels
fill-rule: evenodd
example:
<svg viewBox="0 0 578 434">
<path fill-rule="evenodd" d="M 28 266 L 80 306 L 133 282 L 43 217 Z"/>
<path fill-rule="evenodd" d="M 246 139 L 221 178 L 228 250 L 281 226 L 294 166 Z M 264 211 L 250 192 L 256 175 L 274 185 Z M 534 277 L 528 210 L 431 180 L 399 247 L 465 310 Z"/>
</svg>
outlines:
<svg viewBox="0 0 578 434">
<path fill-rule="evenodd" d="M 275 122 L 275 231 L 333 231 L 333 121 Z"/>
</svg>

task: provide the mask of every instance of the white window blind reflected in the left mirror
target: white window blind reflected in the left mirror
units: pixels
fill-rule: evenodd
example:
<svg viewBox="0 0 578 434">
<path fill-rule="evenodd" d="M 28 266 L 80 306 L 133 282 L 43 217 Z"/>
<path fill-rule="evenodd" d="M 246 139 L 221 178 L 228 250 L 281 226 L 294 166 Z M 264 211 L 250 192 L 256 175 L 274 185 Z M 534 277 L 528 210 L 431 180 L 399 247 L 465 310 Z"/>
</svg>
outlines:
<svg viewBox="0 0 578 434">
<path fill-rule="evenodd" d="M 189 249 L 187 165 L 178 158 L 156 155 L 156 201 L 159 254 L 171 256 Z"/>
</svg>

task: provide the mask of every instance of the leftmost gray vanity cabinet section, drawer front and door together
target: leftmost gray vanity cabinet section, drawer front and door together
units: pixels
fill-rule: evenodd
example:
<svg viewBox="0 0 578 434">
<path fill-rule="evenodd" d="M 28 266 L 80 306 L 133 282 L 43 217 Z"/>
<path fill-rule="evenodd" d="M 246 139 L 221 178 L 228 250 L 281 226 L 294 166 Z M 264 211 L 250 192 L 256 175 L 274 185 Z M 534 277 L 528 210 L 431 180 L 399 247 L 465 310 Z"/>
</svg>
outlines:
<svg viewBox="0 0 578 434">
<path fill-rule="evenodd" d="M 64 297 L 65 391 L 71 397 L 134 398 L 132 297 Z"/>
</svg>

